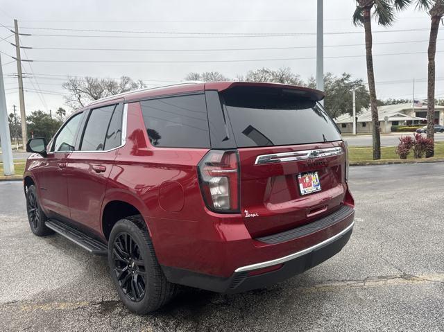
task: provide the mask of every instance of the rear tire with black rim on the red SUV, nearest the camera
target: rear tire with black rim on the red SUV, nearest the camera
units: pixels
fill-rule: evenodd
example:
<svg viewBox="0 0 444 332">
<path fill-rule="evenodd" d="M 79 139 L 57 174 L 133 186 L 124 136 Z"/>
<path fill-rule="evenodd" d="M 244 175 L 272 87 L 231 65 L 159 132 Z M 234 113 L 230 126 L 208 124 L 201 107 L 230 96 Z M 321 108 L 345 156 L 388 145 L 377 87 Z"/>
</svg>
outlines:
<svg viewBox="0 0 444 332">
<path fill-rule="evenodd" d="M 177 286 L 164 276 L 142 216 L 123 218 L 112 227 L 108 263 L 119 297 L 134 313 L 155 311 L 176 295 Z"/>
</svg>

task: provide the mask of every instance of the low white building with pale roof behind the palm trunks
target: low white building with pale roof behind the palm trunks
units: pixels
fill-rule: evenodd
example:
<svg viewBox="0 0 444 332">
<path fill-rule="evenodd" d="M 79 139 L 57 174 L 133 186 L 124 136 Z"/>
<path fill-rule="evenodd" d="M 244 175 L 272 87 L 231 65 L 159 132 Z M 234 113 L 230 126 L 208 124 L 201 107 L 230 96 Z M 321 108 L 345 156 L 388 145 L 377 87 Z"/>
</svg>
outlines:
<svg viewBox="0 0 444 332">
<path fill-rule="evenodd" d="M 411 125 L 412 121 L 415 125 L 425 125 L 427 118 L 427 105 L 413 108 L 411 103 L 386 105 L 377 107 L 377 111 L 379 114 L 379 128 L 381 128 L 382 133 L 391 132 L 392 125 Z M 349 114 L 342 114 L 334 121 L 338 124 L 341 132 L 353 132 L 353 119 Z M 435 123 L 444 125 L 444 106 L 435 106 Z M 356 132 L 358 134 L 372 132 L 370 109 L 357 114 Z"/>
</svg>

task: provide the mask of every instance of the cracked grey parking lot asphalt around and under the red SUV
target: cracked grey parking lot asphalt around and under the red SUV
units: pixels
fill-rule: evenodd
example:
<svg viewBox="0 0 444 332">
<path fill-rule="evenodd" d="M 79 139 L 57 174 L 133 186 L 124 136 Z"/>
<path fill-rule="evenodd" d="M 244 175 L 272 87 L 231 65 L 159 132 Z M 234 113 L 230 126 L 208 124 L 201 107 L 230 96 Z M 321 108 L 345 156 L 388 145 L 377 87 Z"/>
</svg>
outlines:
<svg viewBox="0 0 444 332">
<path fill-rule="evenodd" d="M 106 259 L 33 236 L 21 182 L 0 182 L 1 331 L 444 331 L 444 164 L 357 166 L 348 245 L 273 287 L 238 295 L 184 288 L 137 316 Z"/>
</svg>

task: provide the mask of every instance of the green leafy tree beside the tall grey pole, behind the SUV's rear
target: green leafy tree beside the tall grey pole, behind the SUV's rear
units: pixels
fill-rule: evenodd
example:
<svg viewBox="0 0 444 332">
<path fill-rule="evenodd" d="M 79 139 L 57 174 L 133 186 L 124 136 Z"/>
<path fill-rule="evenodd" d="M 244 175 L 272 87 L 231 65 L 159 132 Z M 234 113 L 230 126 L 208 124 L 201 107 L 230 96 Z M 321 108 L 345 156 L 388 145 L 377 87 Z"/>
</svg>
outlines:
<svg viewBox="0 0 444 332">
<path fill-rule="evenodd" d="M 308 87 L 316 88 L 316 80 L 309 78 Z M 326 73 L 324 76 L 324 107 L 332 118 L 337 118 L 341 114 L 353 114 L 353 89 L 356 91 L 356 114 L 363 108 L 370 105 L 368 89 L 361 79 L 353 80 L 350 73 L 343 73 L 341 76 L 334 76 Z"/>
</svg>

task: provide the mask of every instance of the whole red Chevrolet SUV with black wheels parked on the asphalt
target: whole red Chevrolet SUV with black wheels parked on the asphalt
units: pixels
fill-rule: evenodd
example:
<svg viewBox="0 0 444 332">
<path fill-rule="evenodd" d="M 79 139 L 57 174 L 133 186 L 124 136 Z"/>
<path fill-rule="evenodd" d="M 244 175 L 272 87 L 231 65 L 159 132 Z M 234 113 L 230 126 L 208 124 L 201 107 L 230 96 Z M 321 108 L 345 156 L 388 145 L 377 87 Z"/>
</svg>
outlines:
<svg viewBox="0 0 444 332">
<path fill-rule="evenodd" d="M 31 139 L 31 230 L 108 255 L 124 304 L 176 285 L 243 292 L 337 254 L 352 233 L 347 148 L 321 91 L 251 82 L 133 91 Z"/>
</svg>

